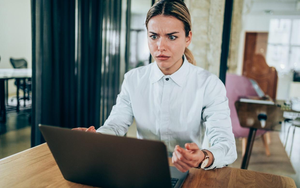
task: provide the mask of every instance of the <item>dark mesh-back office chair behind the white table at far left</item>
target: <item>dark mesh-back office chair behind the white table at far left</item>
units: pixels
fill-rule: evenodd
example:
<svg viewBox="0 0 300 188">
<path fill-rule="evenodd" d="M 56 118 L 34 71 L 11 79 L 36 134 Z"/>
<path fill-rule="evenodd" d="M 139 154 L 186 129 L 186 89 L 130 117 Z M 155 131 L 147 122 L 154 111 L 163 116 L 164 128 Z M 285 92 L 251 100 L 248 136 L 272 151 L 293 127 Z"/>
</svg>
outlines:
<svg viewBox="0 0 300 188">
<path fill-rule="evenodd" d="M 27 68 L 27 61 L 25 59 L 13 59 L 10 58 L 10 63 L 15 69 L 22 69 Z M 28 81 L 26 79 L 19 79 L 16 78 L 15 85 L 17 86 L 17 100 L 19 104 L 19 100 L 24 100 L 24 107 L 26 106 L 26 99 L 30 99 L 30 90 L 31 90 L 31 79 L 29 78 Z M 19 89 L 22 89 L 24 92 L 24 96 L 19 98 Z M 27 92 L 27 97 L 26 97 Z M 19 111 L 19 106 L 17 105 L 17 112 Z"/>
</svg>

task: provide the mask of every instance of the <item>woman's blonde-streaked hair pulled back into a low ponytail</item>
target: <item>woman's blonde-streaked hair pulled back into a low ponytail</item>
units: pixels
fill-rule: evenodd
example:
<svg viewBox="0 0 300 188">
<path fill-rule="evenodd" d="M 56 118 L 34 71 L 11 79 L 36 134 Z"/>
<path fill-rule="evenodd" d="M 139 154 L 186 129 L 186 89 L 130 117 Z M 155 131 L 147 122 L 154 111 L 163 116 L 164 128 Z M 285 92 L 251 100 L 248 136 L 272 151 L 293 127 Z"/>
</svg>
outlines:
<svg viewBox="0 0 300 188">
<path fill-rule="evenodd" d="M 146 28 L 148 29 L 149 20 L 158 15 L 163 16 L 174 16 L 175 18 L 182 21 L 184 25 L 185 37 L 188 37 L 189 32 L 192 28 L 192 22 L 190 19 L 190 12 L 182 0 L 159 0 L 149 9 L 146 17 Z M 195 58 L 192 52 L 185 48 L 184 55 L 187 61 L 193 65 L 196 65 Z"/>
</svg>

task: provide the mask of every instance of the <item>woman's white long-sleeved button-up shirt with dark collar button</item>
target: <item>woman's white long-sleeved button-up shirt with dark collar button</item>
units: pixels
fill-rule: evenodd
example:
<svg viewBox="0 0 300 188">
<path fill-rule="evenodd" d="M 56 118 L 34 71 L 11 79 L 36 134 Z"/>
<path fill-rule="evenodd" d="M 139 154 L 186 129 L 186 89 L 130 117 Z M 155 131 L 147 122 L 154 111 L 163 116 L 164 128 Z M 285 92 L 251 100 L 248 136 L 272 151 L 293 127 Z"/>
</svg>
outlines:
<svg viewBox="0 0 300 188">
<path fill-rule="evenodd" d="M 172 75 L 164 75 L 156 62 L 128 71 L 116 105 L 97 132 L 124 136 L 135 118 L 137 138 L 162 141 L 170 153 L 176 145 L 195 142 L 214 155 L 208 169 L 221 168 L 237 158 L 229 114 L 223 82 L 184 56 Z M 209 148 L 202 147 L 205 134 Z"/>
</svg>

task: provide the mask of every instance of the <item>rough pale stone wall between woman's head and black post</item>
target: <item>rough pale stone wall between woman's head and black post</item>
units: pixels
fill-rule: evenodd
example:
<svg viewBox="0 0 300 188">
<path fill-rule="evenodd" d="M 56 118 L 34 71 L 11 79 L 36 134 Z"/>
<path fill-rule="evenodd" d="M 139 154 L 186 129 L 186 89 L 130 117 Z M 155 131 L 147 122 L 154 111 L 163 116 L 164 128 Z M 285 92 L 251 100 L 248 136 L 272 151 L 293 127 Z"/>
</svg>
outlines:
<svg viewBox="0 0 300 188">
<path fill-rule="evenodd" d="M 188 47 L 197 66 L 219 76 L 225 0 L 184 0 L 192 19 Z"/>
</svg>

